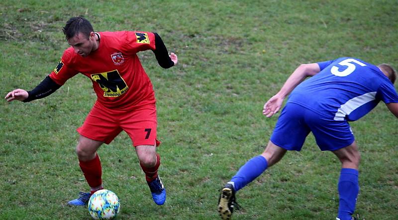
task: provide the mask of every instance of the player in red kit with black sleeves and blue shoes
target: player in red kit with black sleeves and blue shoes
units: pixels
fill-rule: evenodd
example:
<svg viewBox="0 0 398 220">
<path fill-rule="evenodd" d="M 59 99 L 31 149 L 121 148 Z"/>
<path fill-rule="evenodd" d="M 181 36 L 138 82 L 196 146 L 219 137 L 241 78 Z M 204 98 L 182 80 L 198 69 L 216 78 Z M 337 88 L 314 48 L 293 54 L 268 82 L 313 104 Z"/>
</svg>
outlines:
<svg viewBox="0 0 398 220">
<path fill-rule="evenodd" d="M 70 18 L 63 31 L 71 47 L 65 50 L 54 71 L 33 90 L 15 89 L 5 99 L 28 102 L 44 98 L 78 73 L 89 77 L 98 98 L 77 129 L 80 137 L 76 153 L 91 192 L 81 192 L 78 199 L 68 204 L 87 205 L 91 194 L 103 189 L 97 149 L 125 131 L 135 147 L 154 202 L 163 205 L 166 189 L 158 175 L 160 156 L 156 147 L 160 142 L 156 139 L 156 100 L 137 53 L 152 50 L 165 69 L 177 64 L 177 55 L 168 54 L 157 33 L 94 32 L 91 23 L 83 17 Z"/>
</svg>

